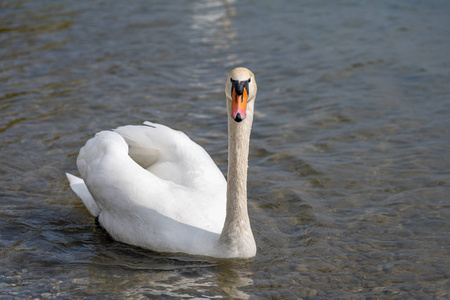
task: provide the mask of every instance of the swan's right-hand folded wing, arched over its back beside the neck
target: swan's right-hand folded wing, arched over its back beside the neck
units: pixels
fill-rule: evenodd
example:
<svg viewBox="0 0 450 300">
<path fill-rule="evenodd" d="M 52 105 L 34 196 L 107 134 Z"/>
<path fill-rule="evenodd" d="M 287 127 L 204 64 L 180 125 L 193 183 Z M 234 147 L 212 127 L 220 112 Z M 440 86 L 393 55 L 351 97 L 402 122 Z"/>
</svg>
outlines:
<svg viewBox="0 0 450 300">
<path fill-rule="evenodd" d="M 129 156 L 161 179 L 216 193 L 226 181 L 208 153 L 181 131 L 145 122 L 115 129 L 129 146 Z"/>
</svg>

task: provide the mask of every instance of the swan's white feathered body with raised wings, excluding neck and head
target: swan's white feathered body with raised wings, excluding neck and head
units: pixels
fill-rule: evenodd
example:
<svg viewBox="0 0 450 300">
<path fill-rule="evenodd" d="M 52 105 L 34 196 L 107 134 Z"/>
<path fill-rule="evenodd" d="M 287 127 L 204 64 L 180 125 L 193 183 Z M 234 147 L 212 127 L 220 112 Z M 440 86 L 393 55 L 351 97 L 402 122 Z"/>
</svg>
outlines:
<svg viewBox="0 0 450 300">
<path fill-rule="evenodd" d="M 72 189 L 116 240 L 201 253 L 194 248 L 222 230 L 226 181 L 179 131 L 152 124 L 99 132 L 80 150 L 77 166 L 83 179 L 68 175 Z"/>
</svg>

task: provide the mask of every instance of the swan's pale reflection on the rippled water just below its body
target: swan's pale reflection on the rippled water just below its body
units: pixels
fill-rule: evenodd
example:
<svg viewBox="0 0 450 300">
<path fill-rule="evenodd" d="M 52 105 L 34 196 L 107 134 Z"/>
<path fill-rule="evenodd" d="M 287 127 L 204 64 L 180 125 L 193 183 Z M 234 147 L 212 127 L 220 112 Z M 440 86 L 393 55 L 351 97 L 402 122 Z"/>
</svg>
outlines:
<svg viewBox="0 0 450 300">
<path fill-rule="evenodd" d="M 146 250 L 130 251 L 128 246 L 122 247 L 116 248 L 114 252 L 99 249 L 99 254 L 89 264 L 88 277 L 79 283 L 87 283 L 88 290 L 94 294 L 144 295 L 153 298 L 158 295 L 189 297 L 215 293 L 239 299 L 249 297 L 239 290 L 253 283 L 252 274 L 246 271 L 248 268 L 245 263 L 156 253 L 149 257 Z M 111 277 L 111 272 L 120 270 L 127 276 Z"/>
</svg>

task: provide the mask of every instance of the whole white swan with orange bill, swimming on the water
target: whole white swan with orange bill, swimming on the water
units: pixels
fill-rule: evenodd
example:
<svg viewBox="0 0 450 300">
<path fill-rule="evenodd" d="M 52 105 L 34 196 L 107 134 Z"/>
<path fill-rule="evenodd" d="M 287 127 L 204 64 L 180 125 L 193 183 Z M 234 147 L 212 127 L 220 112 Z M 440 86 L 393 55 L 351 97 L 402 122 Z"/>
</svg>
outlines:
<svg viewBox="0 0 450 300">
<path fill-rule="evenodd" d="M 247 167 L 256 97 L 253 73 L 228 74 L 228 182 L 184 133 L 145 122 L 102 131 L 77 159 L 72 190 L 116 240 L 160 252 L 248 258 Z"/>
</svg>

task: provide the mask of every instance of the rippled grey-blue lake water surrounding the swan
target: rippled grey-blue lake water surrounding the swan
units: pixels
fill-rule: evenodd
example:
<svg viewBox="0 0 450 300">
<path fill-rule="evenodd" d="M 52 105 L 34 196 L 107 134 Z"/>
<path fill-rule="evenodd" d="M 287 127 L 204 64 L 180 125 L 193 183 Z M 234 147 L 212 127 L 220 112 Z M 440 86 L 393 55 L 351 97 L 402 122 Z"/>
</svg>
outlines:
<svg viewBox="0 0 450 300">
<path fill-rule="evenodd" d="M 0 295 L 450 297 L 446 1 L 3 1 Z M 248 261 L 111 240 L 71 192 L 95 132 L 183 130 L 226 170 L 257 77 Z"/>
</svg>

